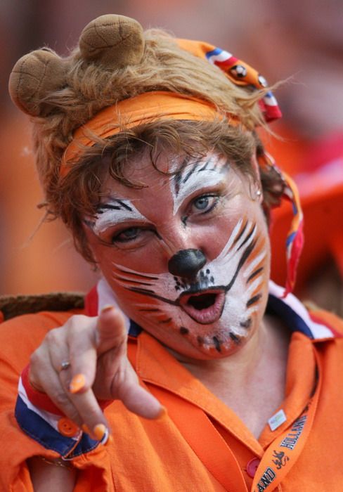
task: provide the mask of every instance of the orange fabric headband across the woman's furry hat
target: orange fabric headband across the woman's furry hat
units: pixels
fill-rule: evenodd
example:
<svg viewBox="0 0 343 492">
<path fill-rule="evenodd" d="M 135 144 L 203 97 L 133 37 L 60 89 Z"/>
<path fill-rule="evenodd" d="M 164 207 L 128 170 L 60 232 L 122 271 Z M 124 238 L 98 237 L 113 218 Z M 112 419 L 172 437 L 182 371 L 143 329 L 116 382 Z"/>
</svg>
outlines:
<svg viewBox="0 0 343 492">
<path fill-rule="evenodd" d="M 96 138 L 115 135 L 123 129 L 139 124 L 153 122 L 156 119 L 190 119 L 193 121 L 213 121 L 221 117 L 213 105 L 198 98 L 182 94 L 156 91 L 145 92 L 133 98 L 105 108 L 77 129 L 73 140 L 65 149 L 60 167 L 60 176 L 65 176 L 70 167 L 67 164 L 75 160 L 84 146 L 91 147 Z M 237 119 L 230 120 L 237 124 Z"/>
</svg>

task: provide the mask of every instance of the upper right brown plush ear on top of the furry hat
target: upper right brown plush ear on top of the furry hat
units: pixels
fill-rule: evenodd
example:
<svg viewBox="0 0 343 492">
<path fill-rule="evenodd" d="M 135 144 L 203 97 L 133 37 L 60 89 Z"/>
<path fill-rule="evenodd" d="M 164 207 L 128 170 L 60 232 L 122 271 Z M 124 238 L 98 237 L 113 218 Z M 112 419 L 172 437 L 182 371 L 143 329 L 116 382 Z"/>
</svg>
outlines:
<svg viewBox="0 0 343 492">
<path fill-rule="evenodd" d="M 84 27 L 79 48 L 85 60 L 107 67 L 136 65 L 144 51 L 143 28 L 124 15 L 101 15 Z"/>
</svg>

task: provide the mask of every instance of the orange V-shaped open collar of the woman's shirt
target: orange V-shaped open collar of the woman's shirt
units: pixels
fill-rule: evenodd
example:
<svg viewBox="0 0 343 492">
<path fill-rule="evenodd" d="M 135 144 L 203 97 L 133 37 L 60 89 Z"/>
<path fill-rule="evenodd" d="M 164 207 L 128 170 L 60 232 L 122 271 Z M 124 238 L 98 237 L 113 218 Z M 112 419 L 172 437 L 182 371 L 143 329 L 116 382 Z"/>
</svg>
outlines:
<svg viewBox="0 0 343 492">
<path fill-rule="evenodd" d="M 132 340 L 131 343 L 135 343 Z M 276 431 L 266 425 L 259 440 L 255 439 L 237 415 L 216 398 L 199 380 L 176 361 L 153 337 L 145 332 L 137 338 L 136 372 L 148 384 L 166 389 L 181 399 L 201 408 L 219 422 L 236 439 L 262 455 L 263 450 L 280 432 L 290 425 L 309 401 L 315 386 L 316 361 L 313 341 L 300 332 L 292 335 L 287 363 L 285 400 L 280 406 L 287 420 Z M 261 401 L 263 396 L 261 396 Z M 277 411 L 278 409 L 276 409 Z"/>
</svg>

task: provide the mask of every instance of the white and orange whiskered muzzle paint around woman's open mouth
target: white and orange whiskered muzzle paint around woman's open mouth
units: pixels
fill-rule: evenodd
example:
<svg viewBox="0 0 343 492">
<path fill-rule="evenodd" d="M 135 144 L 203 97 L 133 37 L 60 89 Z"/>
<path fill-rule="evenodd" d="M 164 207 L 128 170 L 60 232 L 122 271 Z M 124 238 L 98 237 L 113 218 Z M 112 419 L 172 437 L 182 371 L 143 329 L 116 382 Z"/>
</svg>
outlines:
<svg viewBox="0 0 343 492">
<path fill-rule="evenodd" d="M 192 282 L 114 263 L 112 283 L 134 294 L 140 313 L 136 322 L 176 328 L 201 351 L 227 354 L 247 337 L 264 296 L 267 250 L 264 239 L 256 236 L 257 226 L 240 219 L 221 254 Z M 146 320 L 143 313 L 149 313 Z"/>
</svg>

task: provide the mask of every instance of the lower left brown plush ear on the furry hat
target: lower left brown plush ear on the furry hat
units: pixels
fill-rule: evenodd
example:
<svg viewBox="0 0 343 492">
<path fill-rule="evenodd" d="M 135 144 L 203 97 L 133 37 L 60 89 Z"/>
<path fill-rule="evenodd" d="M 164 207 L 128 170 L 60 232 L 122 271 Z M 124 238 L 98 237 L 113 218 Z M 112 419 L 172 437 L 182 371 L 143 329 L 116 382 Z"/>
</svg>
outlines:
<svg viewBox="0 0 343 492">
<path fill-rule="evenodd" d="M 8 90 L 18 108 L 32 116 L 44 116 L 51 106 L 44 103 L 48 92 L 65 83 L 65 64 L 55 53 L 36 50 L 15 63 Z"/>
</svg>

